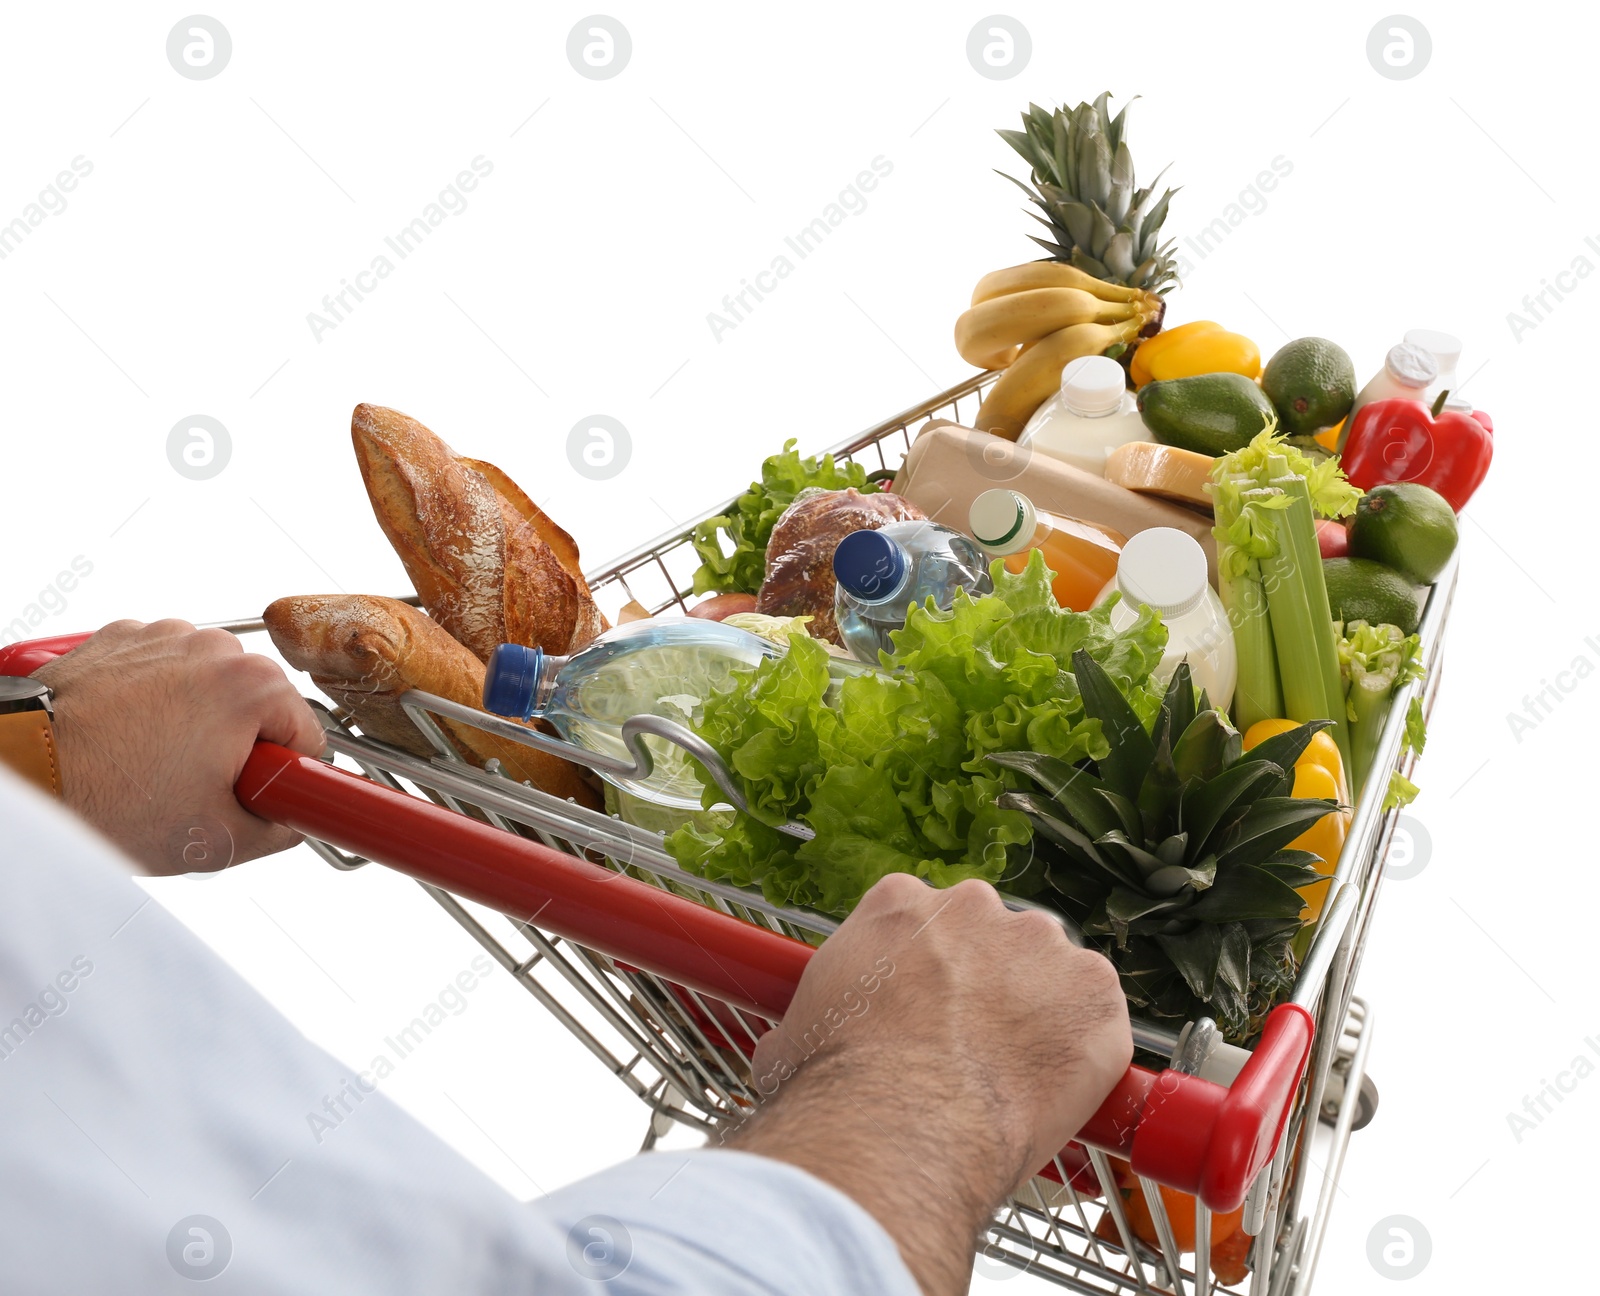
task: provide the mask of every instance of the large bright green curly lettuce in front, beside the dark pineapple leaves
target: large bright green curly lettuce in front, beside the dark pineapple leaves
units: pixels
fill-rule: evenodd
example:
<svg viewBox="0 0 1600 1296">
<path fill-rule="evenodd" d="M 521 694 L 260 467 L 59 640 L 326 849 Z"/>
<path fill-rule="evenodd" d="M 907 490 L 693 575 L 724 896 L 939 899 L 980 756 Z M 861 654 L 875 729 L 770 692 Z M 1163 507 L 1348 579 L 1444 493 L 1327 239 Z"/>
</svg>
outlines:
<svg viewBox="0 0 1600 1296">
<path fill-rule="evenodd" d="M 1040 554 L 1024 571 L 994 568 L 995 592 L 958 594 L 947 611 L 912 608 L 882 654 L 883 670 L 830 693 L 819 643 L 734 672 L 704 704 L 698 733 L 733 770 L 750 806 L 718 834 L 691 824 L 667 838 L 690 872 L 760 886 L 768 899 L 846 912 L 885 874 L 936 886 L 1018 877 L 1032 827 L 1002 810 L 1024 779 L 992 752 L 1032 750 L 1067 763 L 1102 758 L 1106 739 L 1067 669 L 1083 648 L 1146 723 L 1160 702 L 1150 670 L 1166 630 L 1149 610 L 1114 630 L 1110 610 L 1056 605 Z M 832 704 L 830 704 L 832 702 Z M 720 800 L 707 789 L 704 805 Z M 774 832 L 786 819 L 816 837 Z"/>
</svg>

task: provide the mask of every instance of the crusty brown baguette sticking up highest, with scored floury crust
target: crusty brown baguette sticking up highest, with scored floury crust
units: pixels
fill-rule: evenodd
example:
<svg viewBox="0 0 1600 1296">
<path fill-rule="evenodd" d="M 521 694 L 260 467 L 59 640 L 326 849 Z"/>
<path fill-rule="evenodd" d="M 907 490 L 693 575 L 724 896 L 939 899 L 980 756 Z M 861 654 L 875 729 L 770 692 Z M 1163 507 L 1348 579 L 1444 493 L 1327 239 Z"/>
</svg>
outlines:
<svg viewBox="0 0 1600 1296">
<path fill-rule="evenodd" d="M 574 653 L 605 629 L 578 546 L 493 464 L 458 458 L 416 419 L 357 405 L 366 494 L 424 606 L 488 661 L 498 643 Z"/>
</svg>

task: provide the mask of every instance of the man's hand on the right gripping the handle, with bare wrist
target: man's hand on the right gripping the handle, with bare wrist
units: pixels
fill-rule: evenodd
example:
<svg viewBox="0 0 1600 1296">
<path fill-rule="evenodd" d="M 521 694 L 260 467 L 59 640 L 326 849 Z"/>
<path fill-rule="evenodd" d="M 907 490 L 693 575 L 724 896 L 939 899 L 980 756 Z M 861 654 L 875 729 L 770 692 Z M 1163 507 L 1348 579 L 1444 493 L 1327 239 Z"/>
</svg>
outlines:
<svg viewBox="0 0 1600 1296">
<path fill-rule="evenodd" d="M 1008 1192 L 1133 1058 L 1117 973 L 992 886 L 891 874 L 811 958 L 752 1061 L 768 1101 L 730 1138 L 866 1206 L 928 1296 L 971 1280 Z"/>
</svg>

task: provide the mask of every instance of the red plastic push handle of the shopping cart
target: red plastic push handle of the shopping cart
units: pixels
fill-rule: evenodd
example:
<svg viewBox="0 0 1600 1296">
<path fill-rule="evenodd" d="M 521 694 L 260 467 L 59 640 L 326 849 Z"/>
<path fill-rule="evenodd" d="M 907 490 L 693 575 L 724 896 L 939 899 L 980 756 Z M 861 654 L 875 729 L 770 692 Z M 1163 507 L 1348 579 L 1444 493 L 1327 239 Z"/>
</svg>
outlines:
<svg viewBox="0 0 1600 1296">
<path fill-rule="evenodd" d="M 0 648 L 0 674 L 37 670 L 82 638 Z M 275 742 L 256 744 L 234 792 L 264 819 L 765 1018 L 784 1014 L 813 954 L 803 941 Z M 1310 1042 L 1310 1014 L 1283 1005 L 1230 1086 L 1128 1067 L 1078 1141 L 1232 1211 L 1277 1149 Z"/>
</svg>

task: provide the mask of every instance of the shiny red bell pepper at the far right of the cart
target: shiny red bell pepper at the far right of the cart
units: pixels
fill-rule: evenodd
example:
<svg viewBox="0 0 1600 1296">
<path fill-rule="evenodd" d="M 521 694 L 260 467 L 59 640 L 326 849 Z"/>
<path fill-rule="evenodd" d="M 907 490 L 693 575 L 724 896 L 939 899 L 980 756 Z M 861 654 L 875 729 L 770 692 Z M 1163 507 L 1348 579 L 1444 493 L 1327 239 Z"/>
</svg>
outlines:
<svg viewBox="0 0 1600 1296">
<path fill-rule="evenodd" d="M 1363 491 L 1389 482 L 1432 486 L 1458 514 L 1483 485 L 1494 456 L 1494 437 L 1472 413 L 1440 413 L 1419 400 L 1374 400 L 1363 405 L 1344 442 L 1339 466 Z"/>
</svg>

